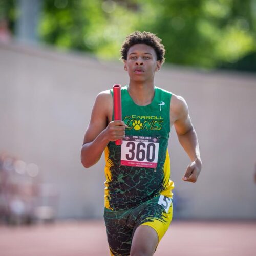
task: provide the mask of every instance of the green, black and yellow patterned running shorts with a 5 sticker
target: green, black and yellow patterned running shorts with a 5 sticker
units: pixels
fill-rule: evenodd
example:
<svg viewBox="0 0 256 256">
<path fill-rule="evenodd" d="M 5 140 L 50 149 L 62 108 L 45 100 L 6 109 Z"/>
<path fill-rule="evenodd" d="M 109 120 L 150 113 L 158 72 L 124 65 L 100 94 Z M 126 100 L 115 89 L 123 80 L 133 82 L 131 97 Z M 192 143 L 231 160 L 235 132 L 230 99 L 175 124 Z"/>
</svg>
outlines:
<svg viewBox="0 0 256 256">
<path fill-rule="evenodd" d="M 172 218 L 172 198 L 163 195 L 129 210 L 112 211 L 105 208 L 104 220 L 111 255 L 130 255 L 133 235 L 140 225 L 152 227 L 158 234 L 159 242 Z"/>
</svg>

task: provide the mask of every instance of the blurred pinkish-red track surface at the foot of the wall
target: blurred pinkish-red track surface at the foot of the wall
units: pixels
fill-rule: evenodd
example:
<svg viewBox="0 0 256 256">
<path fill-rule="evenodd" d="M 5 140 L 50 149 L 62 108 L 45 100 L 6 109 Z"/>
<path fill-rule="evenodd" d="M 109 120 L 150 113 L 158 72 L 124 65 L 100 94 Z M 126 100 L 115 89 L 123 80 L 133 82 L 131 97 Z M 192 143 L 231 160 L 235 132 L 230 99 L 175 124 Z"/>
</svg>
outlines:
<svg viewBox="0 0 256 256">
<path fill-rule="evenodd" d="M 256 222 L 173 222 L 154 255 L 254 256 Z M 0 227 L 1 256 L 109 255 L 103 221 Z"/>
</svg>

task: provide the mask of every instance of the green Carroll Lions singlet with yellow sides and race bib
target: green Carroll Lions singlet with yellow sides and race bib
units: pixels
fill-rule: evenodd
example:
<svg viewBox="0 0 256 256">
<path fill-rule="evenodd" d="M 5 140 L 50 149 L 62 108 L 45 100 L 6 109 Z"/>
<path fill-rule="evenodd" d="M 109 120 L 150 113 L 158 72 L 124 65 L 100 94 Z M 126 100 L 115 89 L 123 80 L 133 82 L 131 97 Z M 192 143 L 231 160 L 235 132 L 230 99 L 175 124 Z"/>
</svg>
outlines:
<svg viewBox="0 0 256 256">
<path fill-rule="evenodd" d="M 160 194 L 172 198 L 174 188 L 167 150 L 172 94 L 154 87 L 152 102 L 139 106 L 127 88 L 121 88 L 125 138 L 121 146 L 110 142 L 105 148 L 105 208 L 114 211 L 137 207 Z"/>
</svg>

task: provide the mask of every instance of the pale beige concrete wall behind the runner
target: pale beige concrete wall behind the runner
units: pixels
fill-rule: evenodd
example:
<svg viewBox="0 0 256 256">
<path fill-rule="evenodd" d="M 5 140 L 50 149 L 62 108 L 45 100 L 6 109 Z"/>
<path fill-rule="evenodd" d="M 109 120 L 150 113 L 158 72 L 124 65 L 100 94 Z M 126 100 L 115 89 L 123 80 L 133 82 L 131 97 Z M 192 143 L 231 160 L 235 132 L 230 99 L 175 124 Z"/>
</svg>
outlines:
<svg viewBox="0 0 256 256">
<path fill-rule="evenodd" d="M 128 81 L 119 62 L 0 45 L 0 152 L 39 166 L 59 191 L 58 217 L 102 216 L 104 158 L 84 169 L 80 147 L 96 95 Z M 183 199 L 177 215 L 256 218 L 256 76 L 165 64 L 155 81 L 186 99 L 203 160 L 198 182 L 183 182 L 189 159 L 172 131 L 172 179 Z"/>
</svg>

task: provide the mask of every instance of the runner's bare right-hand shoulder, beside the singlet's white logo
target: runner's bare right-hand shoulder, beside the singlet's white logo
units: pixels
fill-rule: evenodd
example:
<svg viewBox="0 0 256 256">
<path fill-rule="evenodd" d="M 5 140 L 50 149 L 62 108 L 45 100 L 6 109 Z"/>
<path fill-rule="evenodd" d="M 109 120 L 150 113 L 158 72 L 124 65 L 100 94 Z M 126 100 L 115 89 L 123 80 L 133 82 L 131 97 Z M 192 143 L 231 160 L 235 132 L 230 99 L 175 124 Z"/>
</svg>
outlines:
<svg viewBox="0 0 256 256">
<path fill-rule="evenodd" d="M 172 94 L 170 101 L 170 120 L 175 123 L 179 119 L 186 118 L 188 115 L 188 106 L 185 99 L 181 96 Z"/>
</svg>

